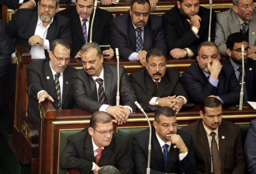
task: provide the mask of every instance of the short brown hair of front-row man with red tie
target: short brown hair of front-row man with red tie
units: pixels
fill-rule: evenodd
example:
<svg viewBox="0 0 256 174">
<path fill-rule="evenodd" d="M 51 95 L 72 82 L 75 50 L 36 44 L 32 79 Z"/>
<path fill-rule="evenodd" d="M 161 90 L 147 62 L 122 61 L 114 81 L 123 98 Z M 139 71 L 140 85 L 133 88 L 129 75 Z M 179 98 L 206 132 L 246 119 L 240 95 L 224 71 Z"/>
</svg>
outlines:
<svg viewBox="0 0 256 174">
<path fill-rule="evenodd" d="M 91 116 L 89 127 L 96 128 L 97 123 L 105 124 L 105 123 L 109 123 L 109 122 L 112 122 L 112 118 L 108 113 L 102 112 L 102 111 L 97 111 L 97 112 L 93 113 L 93 115 Z"/>
</svg>

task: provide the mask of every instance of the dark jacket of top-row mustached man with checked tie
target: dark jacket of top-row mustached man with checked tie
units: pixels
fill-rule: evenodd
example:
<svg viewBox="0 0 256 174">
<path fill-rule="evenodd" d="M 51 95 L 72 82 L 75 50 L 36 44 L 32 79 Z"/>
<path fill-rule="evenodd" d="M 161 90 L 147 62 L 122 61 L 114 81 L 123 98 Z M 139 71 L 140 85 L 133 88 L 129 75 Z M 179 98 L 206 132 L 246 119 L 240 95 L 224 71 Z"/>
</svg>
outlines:
<svg viewBox="0 0 256 174">
<path fill-rule="evenodd" d="M 118 48 L 120 56 L 125 60 L 131 53 L 136 52 L 136 33 L 129 11 L 110 21 L 110 39 L 113 48 Z M 149 51 L 153 48 L 167 52 L 162 19 L 160 16 L 149 15 L 144 27 L 143 50 Z"/>
</svg>

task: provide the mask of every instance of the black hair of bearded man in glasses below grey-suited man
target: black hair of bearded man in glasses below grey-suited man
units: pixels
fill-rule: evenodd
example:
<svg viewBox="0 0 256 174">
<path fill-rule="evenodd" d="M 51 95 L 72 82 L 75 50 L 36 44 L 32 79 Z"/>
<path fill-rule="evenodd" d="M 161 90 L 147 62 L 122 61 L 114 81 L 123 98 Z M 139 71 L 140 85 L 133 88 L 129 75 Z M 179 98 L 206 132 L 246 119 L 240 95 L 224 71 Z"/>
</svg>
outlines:
<svg viewBox="0 0 256 174">
<path fill-rule="evenodd" d="M 246 34 L 239 32 L 232 33 L 231 35 L 229 35 L 229 37 L 227 37 L 227 49 L 233 50 L 234 43 L 241 43 L 243 41 L 249 42 L 249 39 Z"/>
</svg>

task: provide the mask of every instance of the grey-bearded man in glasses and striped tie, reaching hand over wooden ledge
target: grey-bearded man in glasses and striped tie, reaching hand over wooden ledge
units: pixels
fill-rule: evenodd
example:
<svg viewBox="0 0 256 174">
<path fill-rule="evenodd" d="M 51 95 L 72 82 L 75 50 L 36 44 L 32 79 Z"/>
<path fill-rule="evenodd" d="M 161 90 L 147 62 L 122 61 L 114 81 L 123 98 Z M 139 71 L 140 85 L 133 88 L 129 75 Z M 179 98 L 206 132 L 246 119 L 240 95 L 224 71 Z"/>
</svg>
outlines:
<svg viewBox="0 0 256 174">
<path fill-rule="evenodd" d="M 70 61 L 69 43 L 65 40 L 54 40 L 49 55 L 50 60 L 34 61 L 27 66 L 27 94 L 30 96 L 27 114 L 38 128 L 40 128 L 38 103 L 48 99 L 55 109 L 72 109 L 75 105 L 71 76 L 76 69 L 67 66 Z M 57 81 L 60 94 L 56 89 Z"/>
</svg>

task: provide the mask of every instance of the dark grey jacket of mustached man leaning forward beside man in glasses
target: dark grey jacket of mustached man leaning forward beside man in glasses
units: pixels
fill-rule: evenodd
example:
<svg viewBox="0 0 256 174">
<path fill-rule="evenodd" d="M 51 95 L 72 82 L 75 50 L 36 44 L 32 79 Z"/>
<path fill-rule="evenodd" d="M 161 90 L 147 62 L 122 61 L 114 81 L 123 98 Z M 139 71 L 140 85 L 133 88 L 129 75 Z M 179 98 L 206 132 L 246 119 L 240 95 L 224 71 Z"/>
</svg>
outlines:
<svg viewBox="0 0 256 174">
<path fill-rule="evenodd" d="M 104 68 L 104 91 L 107 104 L 116 105 L 117 96 L 117 66 L 103 63 Z M 133 111 L 136 110 L 134 102 L 137 97 L 131 86 L 128 75 L 124 67 L 119 67 L 120 79 L 120 105 L 130 106 Z M 79 108 L 89 112 L 99 111 L 103 103 L 98 102 L 98 91 L 96 82 L 88 73 L 81 69 L 73 74 L 73 94 Z"/>
</svg>

